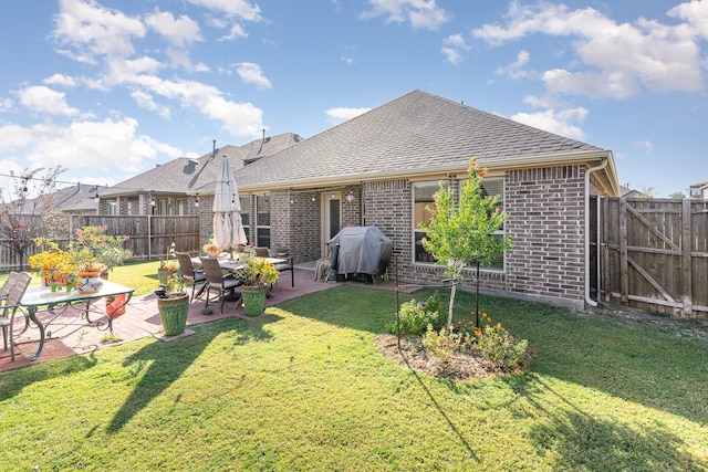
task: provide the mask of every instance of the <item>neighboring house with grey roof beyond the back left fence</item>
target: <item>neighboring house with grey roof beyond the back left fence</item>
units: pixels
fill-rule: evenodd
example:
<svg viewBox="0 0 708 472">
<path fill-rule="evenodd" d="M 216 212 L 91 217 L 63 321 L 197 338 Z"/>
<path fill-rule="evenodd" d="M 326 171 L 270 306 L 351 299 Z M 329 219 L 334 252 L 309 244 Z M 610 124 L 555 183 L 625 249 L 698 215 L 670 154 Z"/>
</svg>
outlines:
<svg viewBox="0 0 708 472">
<path fill-rule="evenodd" d="M 210 188 L 221 162 L 227 156 L 232 169 L 254 162 L 282 150 L 302 138 L 292 133 L 253 140 L 243 146 L 223 146 L 192 159 L 179 157 L 132 177 L 112 187 L 97 187 L 101 214 L 158 214 L 184 216 L 199 212 L 199 188 Z M 94 203 L 95 206 L 95 203 Z"/>
</svg>

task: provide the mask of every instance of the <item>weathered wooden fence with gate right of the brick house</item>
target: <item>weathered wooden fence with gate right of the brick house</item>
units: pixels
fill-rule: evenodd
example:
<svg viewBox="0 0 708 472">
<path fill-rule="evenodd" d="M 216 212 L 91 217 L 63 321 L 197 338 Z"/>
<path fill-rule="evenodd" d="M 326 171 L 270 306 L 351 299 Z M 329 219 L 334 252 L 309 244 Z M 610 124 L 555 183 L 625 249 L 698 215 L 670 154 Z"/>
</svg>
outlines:
<svg viewBox="0 0 708 472">
<path fill-rule="evenodd" d="M 708 319 L 707 200 L 594 197 L 591 248 L 597 300 Z"/>
</svg>

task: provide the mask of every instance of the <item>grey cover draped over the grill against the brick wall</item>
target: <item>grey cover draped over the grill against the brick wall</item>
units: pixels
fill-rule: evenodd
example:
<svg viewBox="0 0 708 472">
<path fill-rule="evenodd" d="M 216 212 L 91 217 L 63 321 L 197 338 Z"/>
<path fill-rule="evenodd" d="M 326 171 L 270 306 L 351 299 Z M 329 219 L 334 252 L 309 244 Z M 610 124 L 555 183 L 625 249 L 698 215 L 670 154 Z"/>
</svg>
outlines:
<svg viewBox="0 0 708 472">
<path fill-rule="evenodd" d="M 332 269 L 339 274 L 382 275 L 393 241 L 376 227 L 347 227 L 330 240 Z"/>
</svg>

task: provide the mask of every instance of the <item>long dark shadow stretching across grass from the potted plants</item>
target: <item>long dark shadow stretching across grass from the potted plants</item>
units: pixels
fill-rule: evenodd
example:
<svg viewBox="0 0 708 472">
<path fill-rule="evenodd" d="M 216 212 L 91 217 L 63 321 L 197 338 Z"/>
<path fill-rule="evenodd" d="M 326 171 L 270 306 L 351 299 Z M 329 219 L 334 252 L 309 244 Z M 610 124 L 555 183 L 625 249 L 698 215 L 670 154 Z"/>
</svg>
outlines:
<svg viewBox="0 0 708 472">
<path fill-rule="evenodd" d="M 266 324 L 275 323 L 281 317 L 272 314 L 253 319 L 223 318 L 214 323 L 192 326 L 196 335 L 170 340 L 155 342 L 128 356 L 123 363 L 129 377 L 143 376 L 123 406 L 113 416 L 107 432 L 117 432 L 133 416 L 148 406 L 166 388 L 201 356 L 211 342 L 221 334 L 233 336 L 233 345 L 243 345 L 250 340 L 268 342 L 271 334 L 263 329 Z M 235 326 L 236 324 L 236 326 Z M 145 366 L 147 371 L 143 373 Z"/>
</svg>

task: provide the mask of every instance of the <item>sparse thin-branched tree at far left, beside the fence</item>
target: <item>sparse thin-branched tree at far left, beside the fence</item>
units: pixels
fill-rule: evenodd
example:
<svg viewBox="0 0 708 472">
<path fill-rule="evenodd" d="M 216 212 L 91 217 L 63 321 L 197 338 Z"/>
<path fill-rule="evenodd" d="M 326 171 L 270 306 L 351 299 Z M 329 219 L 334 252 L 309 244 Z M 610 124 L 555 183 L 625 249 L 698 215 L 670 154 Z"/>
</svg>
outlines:
<svg viewBox="0 0 708 472">
<path fill-rule="evenodd" d="M 56 239 L 67 234 L 69 220 L 54 200 L 61 167 L 24 170 L 14 177 L 13 188 L 0 192 L 0 245 L 18 255 L 24 270 L 28 249 L 39 238 Z M 6 199 L 6 195 L 10 198 Z"/>
</svg>

